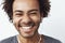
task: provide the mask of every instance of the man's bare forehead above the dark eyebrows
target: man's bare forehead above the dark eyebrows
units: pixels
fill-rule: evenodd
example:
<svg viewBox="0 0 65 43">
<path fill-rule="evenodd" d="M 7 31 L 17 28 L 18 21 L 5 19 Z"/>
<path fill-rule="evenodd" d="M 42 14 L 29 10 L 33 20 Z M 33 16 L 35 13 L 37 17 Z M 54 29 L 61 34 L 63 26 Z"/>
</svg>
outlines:
<svg viewBox="0 0 65 43">
<path fill-rule="evenodd" d="M 37 0 L 15 0 L 13 2 L 13 10 L 30 10 L 30 9 L 39 9 L 39 4 Z"/>
</svg>

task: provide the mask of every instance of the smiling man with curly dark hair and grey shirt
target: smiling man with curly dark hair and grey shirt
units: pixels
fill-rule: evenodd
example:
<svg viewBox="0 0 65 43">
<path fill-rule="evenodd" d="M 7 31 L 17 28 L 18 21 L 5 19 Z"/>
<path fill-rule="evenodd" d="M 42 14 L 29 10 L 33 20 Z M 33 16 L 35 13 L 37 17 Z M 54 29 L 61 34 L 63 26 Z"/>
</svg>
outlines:
<svg viewBox="0 0 65 43">
<path fill-rule="evenodd" d="M 50 11 L 49 0 L 5 0 L 3 9 L 20 34 L 0 43 L 61 43 L 53 38 L 39 34 L 42 18 Z"/>
</svg>

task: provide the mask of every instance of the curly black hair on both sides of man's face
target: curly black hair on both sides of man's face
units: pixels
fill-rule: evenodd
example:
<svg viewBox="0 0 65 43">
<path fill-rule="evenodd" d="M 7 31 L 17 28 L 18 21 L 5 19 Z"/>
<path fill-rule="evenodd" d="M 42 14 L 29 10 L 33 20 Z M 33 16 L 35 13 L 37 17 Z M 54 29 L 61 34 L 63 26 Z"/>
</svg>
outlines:
<svg viewBox="0 0 65 43">
<path fill-rule="evenodd" d="M 8 13 L 10 20 L 12 19 L 13 12 L 12 12 L 12 4 L 14 0 L 4 0 L 3 9 L 4 12 Z M 50 1 L 49 0 L 38 0 L 40 6 L 40 13 L 43 13 L 43 17 L 48 17 L 48 13 L 50 12 Z"/>
</svg>

